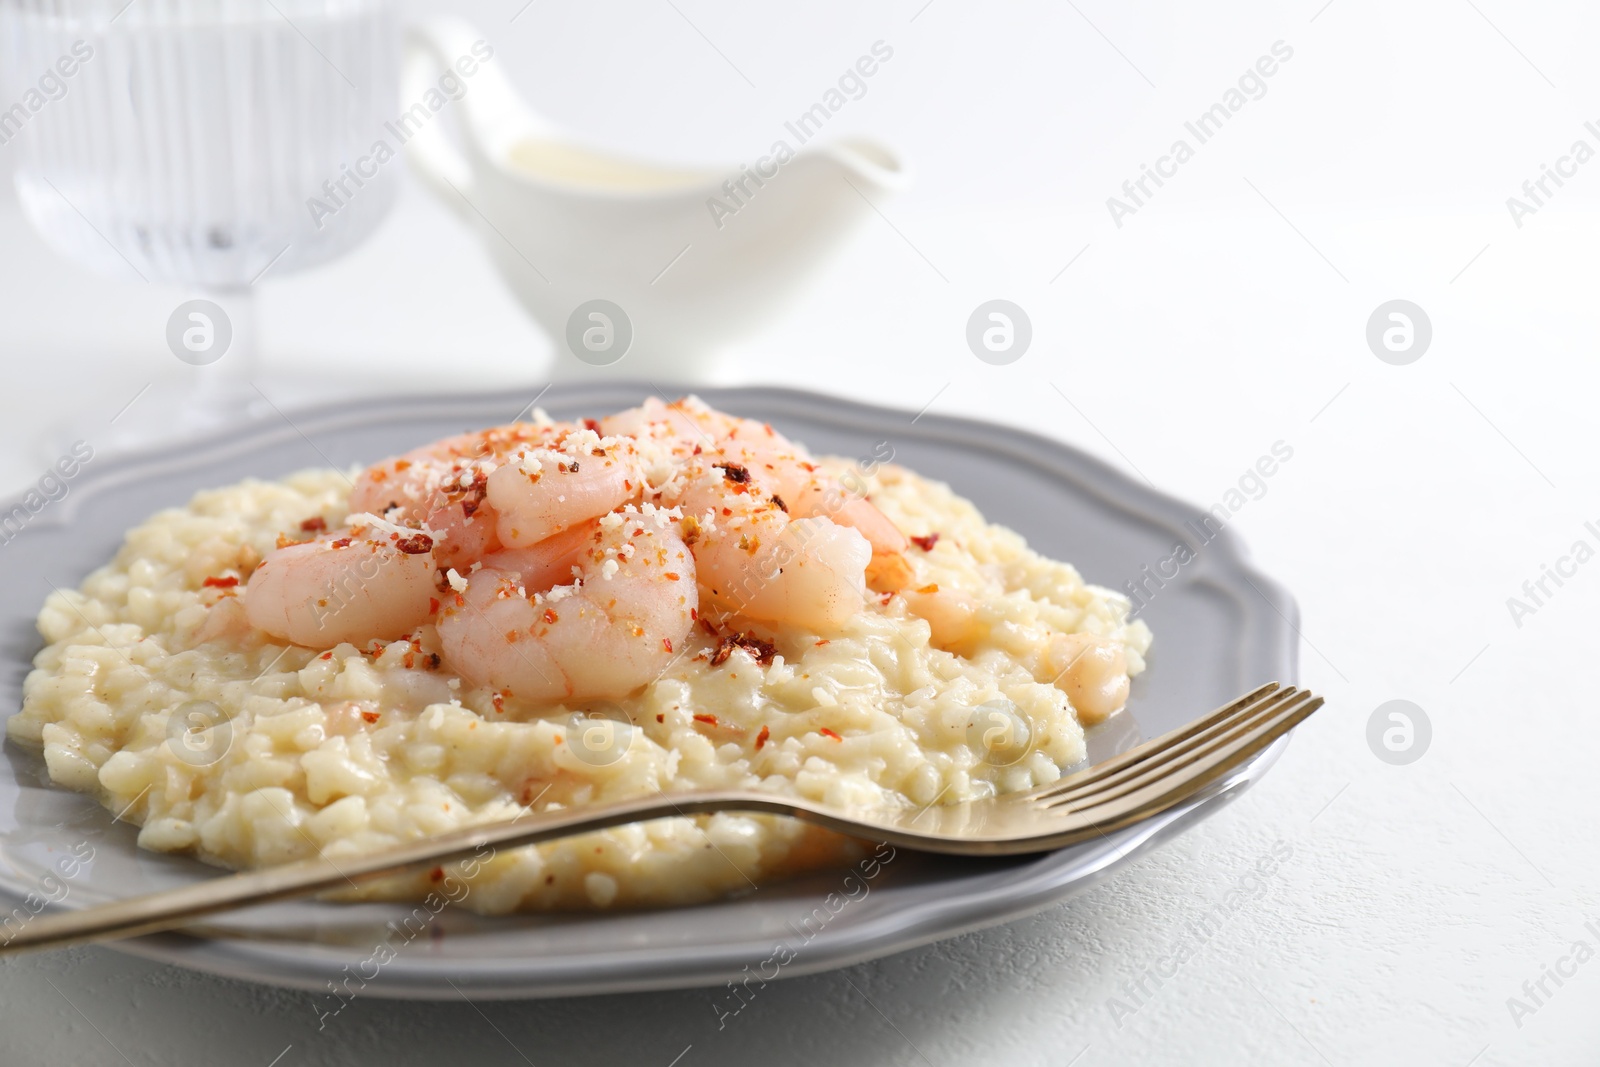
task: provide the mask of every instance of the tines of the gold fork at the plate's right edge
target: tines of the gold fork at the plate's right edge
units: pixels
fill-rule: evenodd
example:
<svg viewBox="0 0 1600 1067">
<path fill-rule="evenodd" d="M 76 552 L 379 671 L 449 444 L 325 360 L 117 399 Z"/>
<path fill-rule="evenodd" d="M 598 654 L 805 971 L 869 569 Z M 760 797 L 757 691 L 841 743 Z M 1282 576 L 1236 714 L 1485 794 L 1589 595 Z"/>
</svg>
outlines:
<svg viewBox="0 0 1600 1067">
<path fill-rule="evenodd" d="M 1194 793 L 1218 777 L 1227 774 L 1253 755 L 1270 745 L 1290 729 L 1302 723 L 1322 707 L 1322 697 L 1304 689 L 1291 691 L 1285 702 L 1275 704 L 1262 717 L 1230 731 L 1222 739 L 1202 750 L 1189 752 L 1162 768 L 1067 801 L 1043 805 L 1053 814 L 1090 817 L 1120 817 L 1126 811 L 1142 811 L 1150 806 L 1168 808 L 1176 797 Z M 1075 805 L 1075 801 L 1082 801 Z"/>
</svg>

